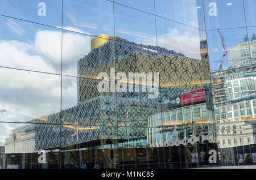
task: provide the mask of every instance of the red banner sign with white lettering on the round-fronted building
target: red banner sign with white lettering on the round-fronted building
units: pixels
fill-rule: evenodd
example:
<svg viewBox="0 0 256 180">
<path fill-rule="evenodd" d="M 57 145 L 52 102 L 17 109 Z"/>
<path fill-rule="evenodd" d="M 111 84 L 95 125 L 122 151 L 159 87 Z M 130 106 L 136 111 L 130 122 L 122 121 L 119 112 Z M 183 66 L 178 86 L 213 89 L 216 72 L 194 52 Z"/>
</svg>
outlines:
<svg viewBox="0 0 256 180">
<path fill-rule="evenodd" d="M 192 93 L 181 95 L 180 96 L 180 104 L 188 104 L 192 102 L 205 101 L 205 91 L 198 90 L 193 91 Z"/>
</svg>

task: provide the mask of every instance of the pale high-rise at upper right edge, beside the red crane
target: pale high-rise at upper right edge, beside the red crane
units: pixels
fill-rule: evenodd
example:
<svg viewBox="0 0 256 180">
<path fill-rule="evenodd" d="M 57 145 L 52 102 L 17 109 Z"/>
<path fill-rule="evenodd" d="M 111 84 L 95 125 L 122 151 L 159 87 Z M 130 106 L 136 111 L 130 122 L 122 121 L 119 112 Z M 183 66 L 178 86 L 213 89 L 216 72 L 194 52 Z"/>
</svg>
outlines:
<svg viewBox="0 0 256 180">
<path fill-rule="evenodd" d="M 229 66 L 244 66 L 255 63 L 256 59 L 256 39 L 239 43 L 230 52 L 228 52 Z M 250 49 L 249 49 L 250 48 Z"/>
</svg>

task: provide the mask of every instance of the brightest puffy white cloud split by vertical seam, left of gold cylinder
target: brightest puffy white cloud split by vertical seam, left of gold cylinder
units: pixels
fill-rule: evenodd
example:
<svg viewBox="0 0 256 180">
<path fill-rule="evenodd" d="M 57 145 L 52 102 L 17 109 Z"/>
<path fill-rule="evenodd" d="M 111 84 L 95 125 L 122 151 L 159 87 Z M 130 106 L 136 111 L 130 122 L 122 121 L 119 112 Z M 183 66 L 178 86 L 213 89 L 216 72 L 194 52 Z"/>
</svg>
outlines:
<svg viewBox="0 0 256 180">
<path fill-rule="evenodd" d="M 89 33 L 77 28 L 64 27 L 70 31 Z M 77 61 L 90 52 L 91 36 L 63 31 L 63 74 L 77 75 Z M 61 66 L 61 32 L 38 31 L 35 36 L 35 48 L 40 54 L 51 59 L 55 66 Z"/>
</svg>

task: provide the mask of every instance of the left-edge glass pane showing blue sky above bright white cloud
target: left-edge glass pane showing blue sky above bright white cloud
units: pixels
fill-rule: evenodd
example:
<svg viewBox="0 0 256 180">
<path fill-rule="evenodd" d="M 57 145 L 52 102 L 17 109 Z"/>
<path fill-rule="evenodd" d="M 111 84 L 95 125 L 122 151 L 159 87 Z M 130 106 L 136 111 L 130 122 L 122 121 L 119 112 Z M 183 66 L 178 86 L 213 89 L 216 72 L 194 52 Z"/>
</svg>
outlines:
<svg viewBox="0 0 256 180">
<path fill-rule="evenodd" d="M 61 73 L 61 30 L 0 17 L 0 66 Z"/>
</svg>

